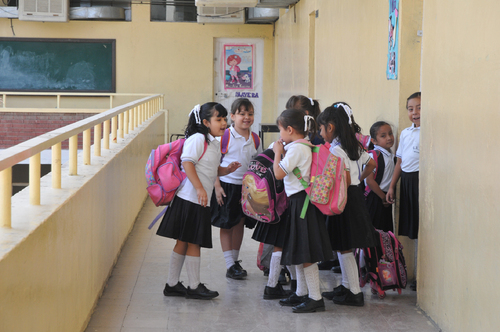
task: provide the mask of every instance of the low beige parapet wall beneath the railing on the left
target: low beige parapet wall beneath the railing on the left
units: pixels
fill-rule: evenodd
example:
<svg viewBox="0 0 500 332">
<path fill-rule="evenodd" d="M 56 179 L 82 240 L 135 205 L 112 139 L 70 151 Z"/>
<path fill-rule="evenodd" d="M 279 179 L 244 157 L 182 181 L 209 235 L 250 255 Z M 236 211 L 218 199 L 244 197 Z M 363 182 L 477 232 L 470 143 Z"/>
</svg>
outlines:
<svg viewBox="0 0 500 332">
<path fill-rule="evenodd" d="M 63 189 L 42 178 L 41 205 L 28 203 L 27 189 L 13 197 L 12 229 L 0 229 L 0 331 L 86 327 L 147 197 L 145 161 L 164 140 L 164 113 L 153 119 L 78 176 L 63 165 Z M 5 254 L 11 241 L 19 244 Z"/>
</svg>

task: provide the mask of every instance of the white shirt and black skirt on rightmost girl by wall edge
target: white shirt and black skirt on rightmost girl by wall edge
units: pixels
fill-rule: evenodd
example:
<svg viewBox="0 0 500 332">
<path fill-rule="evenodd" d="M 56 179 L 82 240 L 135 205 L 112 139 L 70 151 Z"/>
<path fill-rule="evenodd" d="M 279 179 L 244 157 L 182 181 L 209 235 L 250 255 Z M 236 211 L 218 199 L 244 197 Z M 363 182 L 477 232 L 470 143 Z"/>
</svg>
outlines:
<svg viewBox="0 0 500 332">
<path fill-rule="evenodd" d="M 420 127 L 401 132 L 396 157 L 401 158 L 401 193 L 399 204 L 399 235 L 418 238 L 419 204 L 418 172 L 420 158 Z"/>
</svg>

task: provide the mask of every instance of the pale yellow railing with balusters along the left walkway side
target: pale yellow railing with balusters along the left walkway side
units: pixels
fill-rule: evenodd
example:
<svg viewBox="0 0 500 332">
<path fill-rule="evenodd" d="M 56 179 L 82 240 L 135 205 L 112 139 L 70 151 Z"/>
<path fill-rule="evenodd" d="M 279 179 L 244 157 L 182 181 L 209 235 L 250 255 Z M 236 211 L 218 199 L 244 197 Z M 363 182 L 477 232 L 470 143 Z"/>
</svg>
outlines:
<svg viewBox="0 0 500 332">
<path fill-rule="evenodd" d="M 78 94 L 78 96 L 83 95 L 85 94 Z M 110 103 L 112 100 L 111 97 Z M 3 104 L 5 105 L 5 95 Z M 43 150 L 52 149 L 52 188 L 59 189 L 61 188 L 61 142 L 69 139 L 69 175 L 77 175 L 78 134 L 83 132 L 83 165 L 90 165 L 92 128 L 94 128 L 94 156 L 100 156 L 101 142 L 104 149 L 109 149 L 110 139 L 116 142 L 118 138 L 124 138 L 129 131 L 162 109 L 163 95 L 149 95 L 0 151 L 0 227 L 11 227 L 12 223 L 14 165 L 29 158 L 29 200 L 32 205 L 40 205 L 40 153 Z"/>
</svg>

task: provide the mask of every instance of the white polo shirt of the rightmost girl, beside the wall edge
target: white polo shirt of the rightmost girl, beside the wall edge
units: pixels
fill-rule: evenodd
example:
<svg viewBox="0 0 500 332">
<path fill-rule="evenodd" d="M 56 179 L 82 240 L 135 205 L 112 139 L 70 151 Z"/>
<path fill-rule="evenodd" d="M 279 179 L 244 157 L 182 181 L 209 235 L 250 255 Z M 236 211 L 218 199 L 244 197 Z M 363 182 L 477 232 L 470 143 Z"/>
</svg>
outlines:
<svg viewBox="0 0 500 332">
<path fill-rule="evenodd" d="M 399 138 L 399 146 L 396 157 L 401 158 L 401 170 L 406 173 L 418 172 L 420 157 L 420 127 L 403 129 Z"/>
</svg>

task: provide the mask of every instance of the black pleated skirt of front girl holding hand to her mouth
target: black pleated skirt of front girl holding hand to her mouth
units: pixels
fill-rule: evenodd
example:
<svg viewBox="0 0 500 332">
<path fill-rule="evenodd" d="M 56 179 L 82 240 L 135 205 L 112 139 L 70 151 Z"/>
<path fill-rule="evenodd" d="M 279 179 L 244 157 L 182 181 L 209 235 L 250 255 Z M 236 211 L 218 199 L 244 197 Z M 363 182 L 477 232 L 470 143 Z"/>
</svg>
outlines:
<svg viewBox="0 0 500 332">
<path fill-rule="evenodd" d="M 281 256 L 282 265 L 333 259 L 325 216 L 321 211 L 309 202 L 304 219 L 300 218 L 306 196 L 306 192 L 301 191 L 289 197 L 290 205 L 286 215 L 289 227 Z"/>
</svg>

